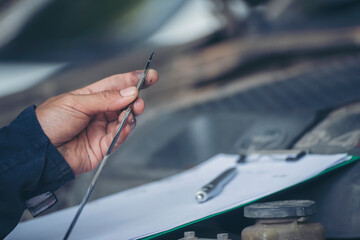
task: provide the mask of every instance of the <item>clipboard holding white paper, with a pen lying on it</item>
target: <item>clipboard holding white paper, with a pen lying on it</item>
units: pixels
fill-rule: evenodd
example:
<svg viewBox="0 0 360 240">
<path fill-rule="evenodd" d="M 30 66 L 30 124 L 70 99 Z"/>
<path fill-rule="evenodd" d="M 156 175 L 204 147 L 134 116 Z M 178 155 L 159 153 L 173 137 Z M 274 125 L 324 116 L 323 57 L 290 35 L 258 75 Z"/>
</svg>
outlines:
<svg viewBox="0 0 360 240">
<path fill-rule="evenodd" d="M 219 196 L 205 204 L 196 202 L 196 190 L 219 172 L 234 166 L 237 155 L 218 154 L 175 176 L 95 200 L 84 209 L 72 237 L 154 239 L 291 188 L 359 159 L 347 154 L 308 154 L 301 161 L 271 162 L 264 157 L 260 161 L 238 166 L 239 174 L 236 178 Z M 246 184 L 241 184 L 244 181 Z M 76 209 L 73 207 L 20 223 L 5 239 L 24 239 L 29 236 L 34 239 L 61 239 L 68 226 L 69 216 Z"/>
</svg>

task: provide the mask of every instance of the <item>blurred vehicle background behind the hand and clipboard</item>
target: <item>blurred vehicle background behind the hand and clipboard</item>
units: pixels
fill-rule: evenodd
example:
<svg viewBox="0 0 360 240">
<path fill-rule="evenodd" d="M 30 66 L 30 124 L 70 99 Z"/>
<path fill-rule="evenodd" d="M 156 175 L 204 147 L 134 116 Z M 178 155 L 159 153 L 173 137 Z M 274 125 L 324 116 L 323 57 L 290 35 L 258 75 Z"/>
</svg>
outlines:
<svg viewBox="0 0 360 240">
<path fill-rule="evenodd" d="M 360 139 L 359 10 L 357 0 L 1 0 L 0 125 L 143 69 L 155 51 L 160 81 L 141 92 L 147 109 L 91 199 L 220 152 L 343 152 Z M 79 204 L 92 174 L 60 189 L 46 213 Z M 360 193 L 359 181 L 348 191 Z"/>
</svg>

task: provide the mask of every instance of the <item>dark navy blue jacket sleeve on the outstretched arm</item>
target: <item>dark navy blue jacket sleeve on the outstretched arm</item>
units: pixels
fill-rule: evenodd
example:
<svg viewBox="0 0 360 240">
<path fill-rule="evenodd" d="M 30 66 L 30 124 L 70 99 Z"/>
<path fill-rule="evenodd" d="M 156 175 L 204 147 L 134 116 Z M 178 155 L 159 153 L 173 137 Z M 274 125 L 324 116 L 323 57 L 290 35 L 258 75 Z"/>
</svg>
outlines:
<svg viewBox="0 0 360 240">
<path fill-rule="evenodd" d="M 27 200 L 73 178 L 70 166 L 42 131 L 35 106 L 0 129 L 0 239 L 16 226 Z"/>
</svg>

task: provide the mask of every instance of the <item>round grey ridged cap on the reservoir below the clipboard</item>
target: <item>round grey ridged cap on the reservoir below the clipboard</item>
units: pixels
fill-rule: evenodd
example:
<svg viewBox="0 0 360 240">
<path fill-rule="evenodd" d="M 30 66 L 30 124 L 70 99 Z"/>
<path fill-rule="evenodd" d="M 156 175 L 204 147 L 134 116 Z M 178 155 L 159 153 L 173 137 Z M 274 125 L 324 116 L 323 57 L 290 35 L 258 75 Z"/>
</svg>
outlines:
<svg viewBox="0 0 360 240">
<path fill-rule="evenodd" d="M 311 200 L 287 200 L 255 203 L 244 208 L 248 218 L 291 218 L 306 217 L 316 213 L 316 205 Z"/>
</svg>

